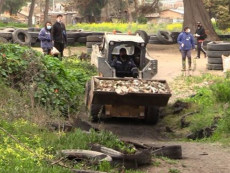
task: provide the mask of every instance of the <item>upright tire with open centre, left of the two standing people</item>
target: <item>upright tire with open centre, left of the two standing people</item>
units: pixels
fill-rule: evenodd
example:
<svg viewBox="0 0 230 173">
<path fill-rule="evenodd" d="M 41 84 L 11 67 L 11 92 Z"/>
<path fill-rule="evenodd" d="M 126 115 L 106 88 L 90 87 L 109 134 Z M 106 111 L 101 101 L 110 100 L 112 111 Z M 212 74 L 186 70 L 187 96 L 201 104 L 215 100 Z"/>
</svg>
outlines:
<svg viewBox="0 0 230 173">
<path fill-rule="evenodd" d="M 22 38 L 19 38 L 22 36 Z M 13 42 L 18 43 L 20 45 L 30 45 L 31 43 L 31 36 L 30 34 L 23 30 L 23 29 L 17 29 L 12 33 Z"/>
</svg>

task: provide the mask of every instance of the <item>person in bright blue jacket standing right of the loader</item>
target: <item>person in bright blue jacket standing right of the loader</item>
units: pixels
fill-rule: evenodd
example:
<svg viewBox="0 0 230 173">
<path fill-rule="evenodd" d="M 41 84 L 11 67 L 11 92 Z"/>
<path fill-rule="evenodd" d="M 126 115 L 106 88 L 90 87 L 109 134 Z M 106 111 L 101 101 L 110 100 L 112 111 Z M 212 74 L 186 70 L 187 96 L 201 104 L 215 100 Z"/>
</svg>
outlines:
<svg viewBox="0 0 230 173">
<path fill-rule="evenodd" d="M 192 49 L 195 50 L 195 39 L 190 33 L 189 27 L 185 27 L 184 32 L 179 34 L 177 42 L 180 44 L 180 52 L 182 55 L 182 70 L 186 70 L 186 57 L 188 58 L 189 70 L 191 70 L 191 54 Z"/>
</svg>

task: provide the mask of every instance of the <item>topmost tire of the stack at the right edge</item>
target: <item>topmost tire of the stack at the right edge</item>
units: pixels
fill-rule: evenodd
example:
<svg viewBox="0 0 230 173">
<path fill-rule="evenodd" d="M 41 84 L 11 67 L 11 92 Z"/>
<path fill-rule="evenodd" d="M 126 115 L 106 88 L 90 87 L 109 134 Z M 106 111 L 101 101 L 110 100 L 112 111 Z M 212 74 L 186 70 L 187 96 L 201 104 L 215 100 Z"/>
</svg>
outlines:
<svg viewBox="0 0 230 173">
<path fill-rule="evenodd" d="M 207 44 L 208 51 L 230 51 L 230 42 L 210 42 Z"/>
</svg>

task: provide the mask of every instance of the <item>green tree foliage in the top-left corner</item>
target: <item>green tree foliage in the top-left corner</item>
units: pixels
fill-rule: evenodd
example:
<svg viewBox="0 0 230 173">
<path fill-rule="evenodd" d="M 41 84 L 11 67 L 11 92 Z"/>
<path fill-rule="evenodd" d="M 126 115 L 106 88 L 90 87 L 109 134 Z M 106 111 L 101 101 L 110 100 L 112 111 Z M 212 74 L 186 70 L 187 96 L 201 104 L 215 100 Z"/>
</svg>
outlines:
<svg viewBox="0 0 230 173">
<path fill-rule="evenodd" d="M 9 11 L 10 15 L 17 14 L 17 12 L 26 5 L 27 0 L 5 0 L 3 4 L 4 11 Z"/>
</svg>

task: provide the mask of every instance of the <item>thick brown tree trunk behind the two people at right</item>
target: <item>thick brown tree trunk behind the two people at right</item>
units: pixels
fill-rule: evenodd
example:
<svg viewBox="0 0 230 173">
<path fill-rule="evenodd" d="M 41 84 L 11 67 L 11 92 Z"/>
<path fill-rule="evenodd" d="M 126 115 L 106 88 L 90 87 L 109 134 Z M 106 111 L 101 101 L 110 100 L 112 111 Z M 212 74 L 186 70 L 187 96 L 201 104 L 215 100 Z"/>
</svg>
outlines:
<svg viewBox="0 0 230 173">
<path fill-rule="evenodd" d="M 195 33 L 196 23 L 201 22 L 205 28 L 208 40 L 217 41 L 219 40 L 211 19 L 204 7 L 204 3 L 201 0 L 183 0 L 184 2 L 184 23 L 183 27 L 190 27 L 191 32 Z"/>
</svg>

